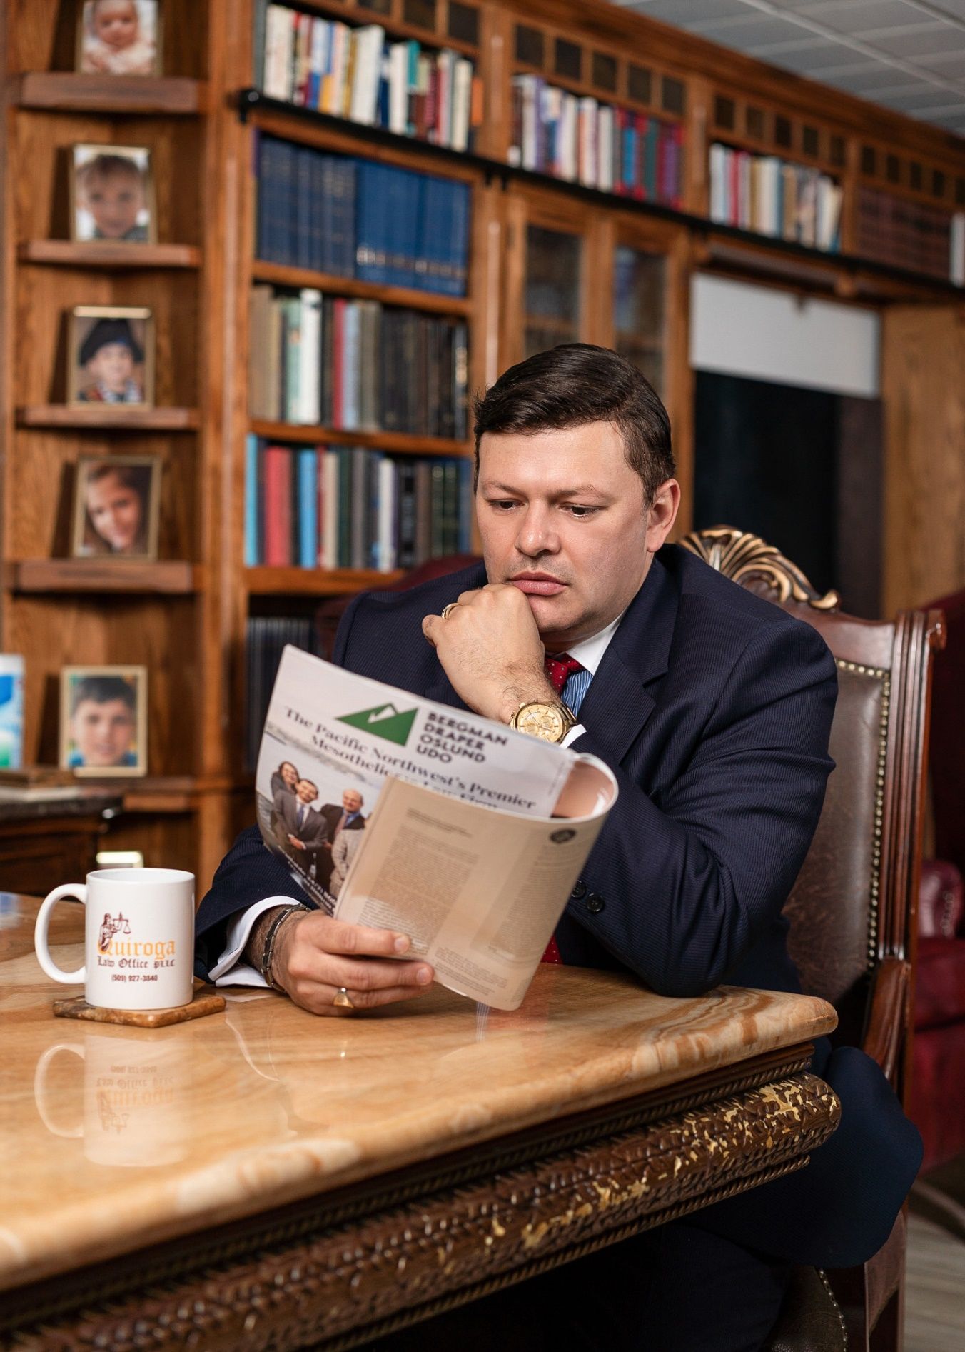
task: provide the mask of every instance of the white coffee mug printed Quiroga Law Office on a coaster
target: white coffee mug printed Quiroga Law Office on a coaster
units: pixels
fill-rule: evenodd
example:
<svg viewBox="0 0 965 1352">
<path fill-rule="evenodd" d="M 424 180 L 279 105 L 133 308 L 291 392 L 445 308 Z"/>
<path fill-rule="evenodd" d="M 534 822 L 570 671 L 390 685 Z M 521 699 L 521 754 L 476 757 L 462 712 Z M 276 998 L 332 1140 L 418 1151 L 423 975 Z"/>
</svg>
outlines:
<svg viewBox="0 0 965 1352">
<path fill-rule="evenodd" d="M 62 896 L 84 903 L 84 967 L 50 956 L 50 913 Z M 189 1005 L 195 965 L 195 875 L 177 868 L 101 868 L 45 896 L 34 927 L 36 960 L 53 982 L 84 986 L 88 1005 L 166 1010 Z"/>
</svg>

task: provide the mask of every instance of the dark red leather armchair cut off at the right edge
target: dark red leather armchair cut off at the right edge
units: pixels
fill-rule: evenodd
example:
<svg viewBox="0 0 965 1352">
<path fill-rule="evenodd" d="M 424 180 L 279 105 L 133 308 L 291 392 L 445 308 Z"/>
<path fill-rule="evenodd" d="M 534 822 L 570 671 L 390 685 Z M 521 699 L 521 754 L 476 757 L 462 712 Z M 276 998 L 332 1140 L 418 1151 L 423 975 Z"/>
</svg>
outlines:
<svg viewBox="0 0 965 1352">
<path fill-rule="evenodd" d="M 919 899 L 911 1115 L 923 1172 L 965 1152 L 965 591 L 934 603 L 947 641 L 935 657 L 930 771 L 937 860 Z"/>
</svg>

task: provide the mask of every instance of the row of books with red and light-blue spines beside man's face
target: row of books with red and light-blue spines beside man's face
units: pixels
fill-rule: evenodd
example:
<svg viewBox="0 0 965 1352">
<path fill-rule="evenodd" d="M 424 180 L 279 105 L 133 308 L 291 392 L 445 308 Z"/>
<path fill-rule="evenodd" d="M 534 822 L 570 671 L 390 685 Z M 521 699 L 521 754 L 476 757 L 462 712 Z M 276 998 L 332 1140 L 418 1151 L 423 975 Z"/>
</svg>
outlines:
<svg viewBox="0 0 965 1352">
<path fill-rule="evenodd" d="M 468 553 L 468 458 L 387 456 L 366 446 L 245 448 L 245 564 L 388 573 Z"/>
</svg>

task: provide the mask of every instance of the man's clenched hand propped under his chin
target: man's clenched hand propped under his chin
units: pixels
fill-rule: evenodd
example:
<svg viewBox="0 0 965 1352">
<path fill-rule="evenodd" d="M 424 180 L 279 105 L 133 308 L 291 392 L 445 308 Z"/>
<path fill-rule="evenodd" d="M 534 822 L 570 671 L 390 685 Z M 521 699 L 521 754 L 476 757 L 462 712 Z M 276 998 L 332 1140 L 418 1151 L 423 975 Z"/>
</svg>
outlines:
<svg viewBox="0 0 965 1352">
<path fill-rule="evenodd" d="M 445 619 L 426 615 L 422 631 L 455 694 L 477 714 L 508 723 L 526 700 L 555 700 L 530 603 L 512 583 L 462 592 Z"/>
</svg>

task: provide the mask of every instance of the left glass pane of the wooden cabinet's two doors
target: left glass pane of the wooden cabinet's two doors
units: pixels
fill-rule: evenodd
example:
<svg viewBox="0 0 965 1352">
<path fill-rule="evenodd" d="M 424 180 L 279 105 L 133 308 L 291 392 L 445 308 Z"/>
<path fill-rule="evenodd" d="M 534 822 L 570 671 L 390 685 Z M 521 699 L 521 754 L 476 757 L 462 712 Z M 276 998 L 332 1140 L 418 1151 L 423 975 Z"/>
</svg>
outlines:
<svg viewBox="0 0 965 1352">
<path fill-rule="evenodd" d="M 523 356 L 580 341 L 583 237 L 526 227 Z"/>
</svg>

